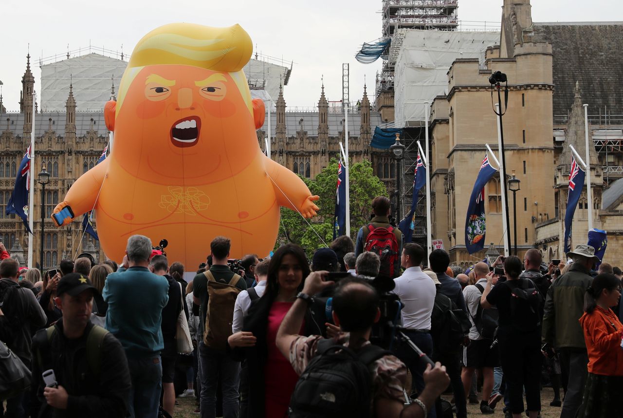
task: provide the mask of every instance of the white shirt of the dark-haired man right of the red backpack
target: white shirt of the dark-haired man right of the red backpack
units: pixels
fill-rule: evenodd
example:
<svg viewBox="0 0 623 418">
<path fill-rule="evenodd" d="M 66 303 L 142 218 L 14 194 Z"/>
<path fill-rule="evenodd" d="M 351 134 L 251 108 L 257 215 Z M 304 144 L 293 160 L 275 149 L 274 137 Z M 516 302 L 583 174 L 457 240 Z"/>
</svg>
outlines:
<svg viewBox="0 0 623 418">
<path fill-rule="evenodd" d="M 402 308 L 402 326 L 408 330 L 430 330 L 430 314 L 437 288 L 432 278 L 419 267 L 409 267 L 401 277 L 394 278 Z"/>
</svg>

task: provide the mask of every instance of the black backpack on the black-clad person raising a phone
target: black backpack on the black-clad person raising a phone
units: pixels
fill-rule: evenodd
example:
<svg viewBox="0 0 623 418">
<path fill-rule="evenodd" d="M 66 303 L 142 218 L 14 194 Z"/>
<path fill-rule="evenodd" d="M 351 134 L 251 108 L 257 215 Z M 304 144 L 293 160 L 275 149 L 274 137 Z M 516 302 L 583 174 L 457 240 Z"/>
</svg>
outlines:
<svg viewBox="0 0 623 418">
<path fill-rule="evenodd" d="M 521 333 L 535 331 L 541 325 L 539 306 L 543 301 L 541 292 L 535 282 L 529 278 L 506 280 L 510 287 L 510 313 L 513 318 L 513 328 Z"/>
</svg>

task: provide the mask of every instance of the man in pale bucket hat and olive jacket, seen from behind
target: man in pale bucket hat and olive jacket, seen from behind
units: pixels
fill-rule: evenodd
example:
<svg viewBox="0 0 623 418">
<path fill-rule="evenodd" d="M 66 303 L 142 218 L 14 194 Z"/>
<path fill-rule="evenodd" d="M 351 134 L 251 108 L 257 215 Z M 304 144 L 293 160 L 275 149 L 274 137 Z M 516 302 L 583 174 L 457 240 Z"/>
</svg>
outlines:
<svg viewBox="0 0 623 418">
<path fill-rule="evenodd" d="M 543 343 L 559 351 L 563 386 L 567 382 L 561 418 L 575 417 L 582 404 L 588 355 L 578 320 L 584 313 L 584 293 L 592 282 L 591 269 L 599 262 L 591 245 L 577 245 L 567 257 L 573 265 L 549 287 L 542 334 Z"/>
</svg>

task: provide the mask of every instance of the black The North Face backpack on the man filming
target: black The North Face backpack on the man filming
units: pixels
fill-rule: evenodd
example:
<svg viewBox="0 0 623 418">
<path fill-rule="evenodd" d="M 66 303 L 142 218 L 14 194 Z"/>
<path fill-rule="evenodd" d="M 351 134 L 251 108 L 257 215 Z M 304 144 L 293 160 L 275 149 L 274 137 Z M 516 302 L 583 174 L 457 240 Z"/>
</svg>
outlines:
<svg viewBox="0 0 623 418">
<path fill-rule="evenodd" d="M 318 342 L 292 392 L 288 416 L 293 418 L 359 418 L 371 416 L 372 376 L 369 365 L 391 355 L 373 344 L 354 352 L 333 340 Z"/>
</svg>

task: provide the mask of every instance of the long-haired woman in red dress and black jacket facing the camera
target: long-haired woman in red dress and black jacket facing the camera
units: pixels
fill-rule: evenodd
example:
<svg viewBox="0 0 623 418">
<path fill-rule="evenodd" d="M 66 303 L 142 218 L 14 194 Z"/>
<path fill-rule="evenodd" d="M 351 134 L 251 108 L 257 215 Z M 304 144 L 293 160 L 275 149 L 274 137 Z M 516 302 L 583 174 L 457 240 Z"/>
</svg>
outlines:
<svg viewBox="0 0 623 418">
<path fill-rule="evenodd" d="M 229 337 L 229 346 L 249 368 L 249 417 L 287 417 L 290 397 L 298 381 L 290 361 L 275 345 L 277 330 L 310 273 L 305 252 L 287 244 L 273 254 L 264 295 L 251 306 L 242 331 Z M 312 308 L 308 309 L 301 335 L 321 335 Z M 240 417 L 246 418 L 246 417 Z"/>
</svg>

